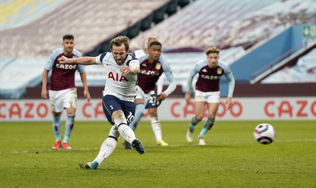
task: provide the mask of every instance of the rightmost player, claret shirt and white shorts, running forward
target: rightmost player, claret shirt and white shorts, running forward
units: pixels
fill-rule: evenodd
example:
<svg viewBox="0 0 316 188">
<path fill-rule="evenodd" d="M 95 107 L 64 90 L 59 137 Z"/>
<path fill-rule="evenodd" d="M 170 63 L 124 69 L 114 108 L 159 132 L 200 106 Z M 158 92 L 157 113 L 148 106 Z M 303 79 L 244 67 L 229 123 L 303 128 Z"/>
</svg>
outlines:
<svg viewBox="0 0 316 188">
<path fill-rule="evenodd" d="M 187 141 L 193 141 L 193 132 L 196 125 L 202 120 L 204 116 L 204 106 L 207 104 L 208 116 L 204 122 L 203 128 L 200 131 L 197 139 L 198 145 L 205 145 L 204 135 L 211 129 L 215 123 L 215 116 L 219 106 L 220 98 L 220 78 L 225 75 L 228 80 L 228 95 L 226 98 L 227 110 L 232 106 L 232 97 L 235 88 L 235 78 L 231 72 L 228 64 L 219 60 L 220 50 L 216 47 L 210 47 L 205 51 L 206 59 L 199 61 L 195 67 L 190 71 L 187 80 L 187 89 L 185 99 L 187 104 L 191 103 L 190 90 L 192 86 L 193 77 L 198 73 L 195 93 L 195 115 L 191 120 L 187 132 Z"/>
</svg>

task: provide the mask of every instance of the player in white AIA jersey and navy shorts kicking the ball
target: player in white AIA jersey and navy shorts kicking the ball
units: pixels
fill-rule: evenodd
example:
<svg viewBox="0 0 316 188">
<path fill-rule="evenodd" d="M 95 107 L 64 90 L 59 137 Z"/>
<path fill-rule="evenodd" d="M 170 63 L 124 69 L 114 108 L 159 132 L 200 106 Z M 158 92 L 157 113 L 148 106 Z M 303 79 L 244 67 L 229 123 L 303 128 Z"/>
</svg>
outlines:
<svg viewBox="0 0 316 188">
<path fill-rule="evenodd" d="M 85 168 L 96 169 L 117 146 L 122 136 L 139 153 L 144 154 L 145 148 L 136 139 L 133 130 L 128 126 L 134 119 L 136 83 L 139 72 L 139 61 L 128 53 L 129 42 L 126 36 L 118 36 L 111 40 L 112 52 L 104 52 L 97 57 L 68 59 L 61 57 L 60 63 L 103 64 L 107 70 L 106 85 L 102 94 L 103 111 L 111 123 L 108 138 L 101 145 L 97 157 L 85 165 Z M 83 165 L 82 165 L 83 167 Z"/>
</svg>

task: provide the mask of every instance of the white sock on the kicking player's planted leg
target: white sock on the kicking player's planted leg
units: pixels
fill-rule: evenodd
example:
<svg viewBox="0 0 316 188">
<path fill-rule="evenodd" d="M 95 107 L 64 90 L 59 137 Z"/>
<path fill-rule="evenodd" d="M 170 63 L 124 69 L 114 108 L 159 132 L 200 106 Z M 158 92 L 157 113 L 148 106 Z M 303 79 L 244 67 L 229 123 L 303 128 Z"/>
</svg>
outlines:
<svg viewBox="0 0 316 188">
<path fill-rule="evenodd" d="M 93 160 L 97 161 L 99 165 L 109 157 L 117 146 L 118 141 L 114 138 L 108 137 L 101 145 L 98 156 Z"/>
</svg>

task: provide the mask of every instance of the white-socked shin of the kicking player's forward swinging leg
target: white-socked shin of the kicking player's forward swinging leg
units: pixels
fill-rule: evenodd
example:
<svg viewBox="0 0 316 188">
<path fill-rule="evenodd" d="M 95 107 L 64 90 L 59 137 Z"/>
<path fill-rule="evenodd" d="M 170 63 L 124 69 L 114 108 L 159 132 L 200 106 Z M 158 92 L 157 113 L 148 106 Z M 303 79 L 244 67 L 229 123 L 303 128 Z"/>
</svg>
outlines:
<svg viewBox="0 0 316 188">
<path fill-rule="evenodd" d="M 114 120 L 115 125 L 118 127 L 118 132 L 121 137 L 124 138 L 130 144 L 135 140 L 134 131 L 127 126 L 127 121 L 124 114 L 118 114 Z"/>
</svg>

